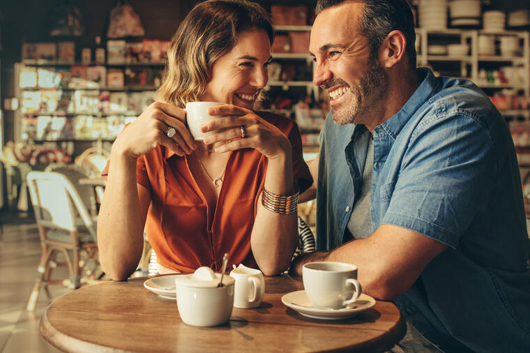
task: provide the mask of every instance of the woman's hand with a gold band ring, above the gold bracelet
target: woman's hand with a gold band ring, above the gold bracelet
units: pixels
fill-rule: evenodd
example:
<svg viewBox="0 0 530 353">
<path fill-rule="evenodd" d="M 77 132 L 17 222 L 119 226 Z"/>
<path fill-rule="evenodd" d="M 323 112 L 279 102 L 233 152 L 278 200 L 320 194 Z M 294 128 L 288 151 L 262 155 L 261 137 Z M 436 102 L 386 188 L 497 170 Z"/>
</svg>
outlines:
<svg viewBox="0 0 530 353">
<path fill-rule="evenodd" d="M 204 138 L 204 143 L 213 144 L 217 153 L 252 148 L 269 159 L 291 153 L 291 143 L 280 129 L 258 117 L 252 110 L 227 104 L 211 107 L 209 113 L 222 116 L 201 126 L 203 133 L 222 130 Z"/>
</svg>

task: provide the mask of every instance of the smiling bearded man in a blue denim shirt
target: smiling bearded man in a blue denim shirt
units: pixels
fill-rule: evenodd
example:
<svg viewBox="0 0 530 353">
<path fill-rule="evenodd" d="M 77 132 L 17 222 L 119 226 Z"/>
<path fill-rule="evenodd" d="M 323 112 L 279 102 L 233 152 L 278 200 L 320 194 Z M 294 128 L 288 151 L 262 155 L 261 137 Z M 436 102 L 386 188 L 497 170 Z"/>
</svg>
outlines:
<svg viewBox="0 0 530 353">
<path fill-rule="evenodd" d="M 510 133 L 474 84 L 417 69 L 414 41 L 406 0 L 318 1 L 314 82 L 333 108 L 310 167 L 321 252 L 292 271 L 356 264 L 363 292 L 406 317 L 407 352 L 530 352 Z"/>
</svg>

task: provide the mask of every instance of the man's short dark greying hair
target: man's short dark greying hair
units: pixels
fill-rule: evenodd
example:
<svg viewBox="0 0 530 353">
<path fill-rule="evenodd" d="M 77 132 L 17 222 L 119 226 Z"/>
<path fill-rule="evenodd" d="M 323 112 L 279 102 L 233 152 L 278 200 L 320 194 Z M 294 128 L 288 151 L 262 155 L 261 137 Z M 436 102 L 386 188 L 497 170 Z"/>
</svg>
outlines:
<svg viewBox="0 0 530 353">
<path fill-rule="evenodd" d="M 347 0 L 318 0 L 317 15 L 326 8 L 339 5 Z M 377 55 L 379 47 L 388 33 L 401 31 L 407 39 L 405 53 L 409 63 L 416 68 L 416 31 L 414 15 L 407 0 L 356 0 L 363 3 L 363 13 L 359 19 L 359 31 L 368 38 L 372 56 Z"/>
</svg>

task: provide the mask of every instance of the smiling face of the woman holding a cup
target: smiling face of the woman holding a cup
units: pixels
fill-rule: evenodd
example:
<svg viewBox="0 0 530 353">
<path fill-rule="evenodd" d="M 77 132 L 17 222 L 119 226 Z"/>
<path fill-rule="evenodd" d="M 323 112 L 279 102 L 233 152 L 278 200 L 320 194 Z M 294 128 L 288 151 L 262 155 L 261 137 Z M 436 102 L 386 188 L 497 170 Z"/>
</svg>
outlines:
<svg viewBox="0 0 530 353">
<path fill-rule="evenodd" d="M 270 61 L 271 45 L 264 30 L 241 33 L 232 50 L 213 63 L 212 78 L 200 100 L 252 109 L 267 84 Z"/>
</svg>

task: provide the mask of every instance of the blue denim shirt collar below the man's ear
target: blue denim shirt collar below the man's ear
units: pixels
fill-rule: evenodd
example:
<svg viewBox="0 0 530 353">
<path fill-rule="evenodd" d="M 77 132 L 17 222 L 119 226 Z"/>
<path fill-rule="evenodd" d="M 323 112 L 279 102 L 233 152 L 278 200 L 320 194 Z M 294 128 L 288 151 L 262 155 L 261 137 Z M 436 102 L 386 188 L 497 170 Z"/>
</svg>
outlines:
<svg viewBox="0 0 530 353">
<path fill-rule="evenodd" d="M 407 103 L 405 103 L 397 113 L 384 123 L 381 123 L 381 125 L 376 126 L 374 129 L 374 135 L 377 136 L 377 133 L 385 131 L 395 139 L 414 112 L 416 112 L 419 107 L 432 96 L 434 91 L 439 89 L 440 82 L 437 77 L 434 76 L 432 70 L 429 68 L 418 68 L 418 74 L 420 78 L 423 77 L 418 89 L 416 89 L 409 100 L 407 100 Z"/>
</svg>

